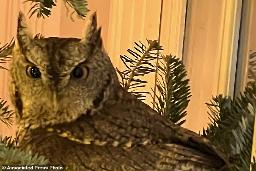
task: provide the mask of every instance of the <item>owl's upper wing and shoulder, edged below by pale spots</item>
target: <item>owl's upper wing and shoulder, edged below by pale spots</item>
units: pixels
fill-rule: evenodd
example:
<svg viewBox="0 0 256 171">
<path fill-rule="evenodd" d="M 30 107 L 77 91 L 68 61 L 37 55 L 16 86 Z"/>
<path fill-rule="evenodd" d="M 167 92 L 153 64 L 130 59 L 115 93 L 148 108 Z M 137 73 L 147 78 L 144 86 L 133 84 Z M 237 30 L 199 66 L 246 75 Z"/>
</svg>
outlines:
<svg viewBox="0 0 256 171">
<path fill-rule="evenodd" d="M 230 165 L 229 156 L 208 139 L 175 125 L 128 93 L 120 99 L 99 111 L 87 112 L 73 122 L 54 125 L 48 131 L 72 141 L 98 146 L 176 143 L 222 158 Z"/>
</svg>

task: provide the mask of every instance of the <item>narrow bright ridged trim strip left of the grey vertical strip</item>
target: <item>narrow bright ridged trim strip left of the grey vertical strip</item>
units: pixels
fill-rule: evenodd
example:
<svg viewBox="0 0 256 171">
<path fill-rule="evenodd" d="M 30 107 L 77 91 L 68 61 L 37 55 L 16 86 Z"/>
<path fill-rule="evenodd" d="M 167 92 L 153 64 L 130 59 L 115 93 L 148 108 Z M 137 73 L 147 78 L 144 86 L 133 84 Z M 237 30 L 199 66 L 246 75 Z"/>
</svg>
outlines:
<svg viewBox="0 0 256 171">
<path fill-rule="evenodd" d="M 241 0 L 225 0 L 223 6 L 218 94 L 233 96 L 234 93 L 241 6 Z"/>
</svg>

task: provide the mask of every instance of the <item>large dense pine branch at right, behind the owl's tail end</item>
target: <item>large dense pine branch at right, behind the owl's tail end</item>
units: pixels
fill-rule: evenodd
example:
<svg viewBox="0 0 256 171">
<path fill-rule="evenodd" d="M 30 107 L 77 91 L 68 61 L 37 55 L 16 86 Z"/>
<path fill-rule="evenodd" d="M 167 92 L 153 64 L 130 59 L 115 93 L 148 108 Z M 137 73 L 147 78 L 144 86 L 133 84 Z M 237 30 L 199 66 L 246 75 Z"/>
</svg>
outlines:
<svg viewBox="0 0 256 171">
<path fill-rule="evenodd" d="M 249 82 L 240 98 L 216 96 L 206 103 L 211 123 L 203 131 L 215 146 L 236 156 L 233 170 L 250 169 L 254 132 L 256 85 Z"/>
</svg>

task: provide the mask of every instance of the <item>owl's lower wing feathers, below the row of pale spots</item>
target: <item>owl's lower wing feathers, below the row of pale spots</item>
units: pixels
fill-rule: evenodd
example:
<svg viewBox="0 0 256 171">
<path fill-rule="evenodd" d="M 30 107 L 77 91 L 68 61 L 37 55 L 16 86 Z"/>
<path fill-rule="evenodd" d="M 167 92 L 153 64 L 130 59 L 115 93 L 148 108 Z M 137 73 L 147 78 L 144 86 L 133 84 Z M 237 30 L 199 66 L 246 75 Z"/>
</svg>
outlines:
<svg viewBox="0 0 256 171">
<path fill-rule="evenodd" d="M 34 130 L 34 140 L 23 143 L 50 163 L 64 164 L 73 171 L 216 171 L 225 163 L 180 144 L 147 144 L 132 147 L 82 144 Z"/>
</svg>

